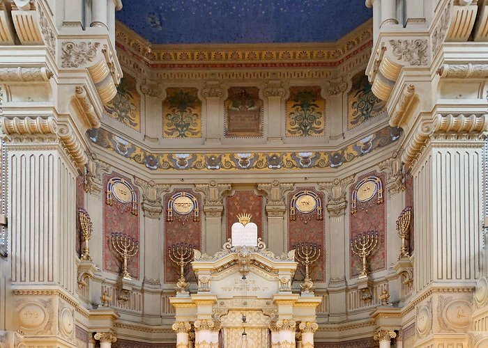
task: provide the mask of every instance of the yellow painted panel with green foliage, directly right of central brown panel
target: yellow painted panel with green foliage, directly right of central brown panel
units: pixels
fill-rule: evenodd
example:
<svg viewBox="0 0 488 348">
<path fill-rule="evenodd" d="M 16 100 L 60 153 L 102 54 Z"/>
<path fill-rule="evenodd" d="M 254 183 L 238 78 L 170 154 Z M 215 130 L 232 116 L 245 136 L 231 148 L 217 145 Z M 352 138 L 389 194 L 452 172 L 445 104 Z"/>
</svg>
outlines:
<svg viewBox="0 0 488 348">
<path fill-rule="evenodd" d="M 287 109 L 287 136 L 326 135 L 326 100 L 319 86 L 290 88 Z"/>
</svg>

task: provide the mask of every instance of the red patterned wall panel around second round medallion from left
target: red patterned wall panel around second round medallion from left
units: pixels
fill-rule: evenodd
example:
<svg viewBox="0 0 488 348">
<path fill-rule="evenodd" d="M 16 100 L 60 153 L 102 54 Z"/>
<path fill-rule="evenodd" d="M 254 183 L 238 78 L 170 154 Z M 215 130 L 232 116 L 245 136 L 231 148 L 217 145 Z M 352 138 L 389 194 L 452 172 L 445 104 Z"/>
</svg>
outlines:
<svg viewBox="0 0 488 348">
<path fill-rule="evenodd" d="M 177 243 L 192 244 L 192 248 L 201 250 L 201 216 L 198 221 L 193 219 L 193 212 L 189 213 L 188 219 L 178 219 L 173 214 L 173 221 L 167 221 L 167 206 L 169 199 L 175 193 L 186 191 L 191 193 L 198 200 L 201 209 L 201 196 L 190 189 L 175 189 L 171 193 L 165 194 L 163 209 L 165 211 L 165 243 L 163 251 L 165 254 L 165 283 L 176 283 L 178 281 L 179 267 L 171 261 L 168 255 L 168 248 Z M 191 216 L 190 216 L 191 215 Z M 185 216 L 186 217 L 186 216 Z M 192 268 L 185 267 L 185 278 L 190 282 L 196 282 L 195 273 Z"/>
</svg>

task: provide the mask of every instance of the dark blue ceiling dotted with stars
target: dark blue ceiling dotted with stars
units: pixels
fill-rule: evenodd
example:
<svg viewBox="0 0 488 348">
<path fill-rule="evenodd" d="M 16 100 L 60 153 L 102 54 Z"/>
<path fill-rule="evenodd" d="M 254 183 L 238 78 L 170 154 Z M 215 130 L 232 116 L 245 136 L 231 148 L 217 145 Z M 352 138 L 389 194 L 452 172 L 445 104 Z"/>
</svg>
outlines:
<svg viewBox="0 0 488 348">
<path fill-rule="evenodd" d="M 333 42 L 372 10 L 364 0 L 128 0 L 116 17 L 153 44 Z"/>
</svg>

